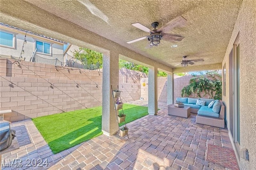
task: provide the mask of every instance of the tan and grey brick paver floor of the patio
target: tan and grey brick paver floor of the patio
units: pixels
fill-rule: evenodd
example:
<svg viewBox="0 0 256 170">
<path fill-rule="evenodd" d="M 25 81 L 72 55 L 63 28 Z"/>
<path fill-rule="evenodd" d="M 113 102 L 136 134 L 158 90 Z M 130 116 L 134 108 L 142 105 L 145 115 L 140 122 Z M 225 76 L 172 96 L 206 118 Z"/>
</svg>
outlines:
<svg viewBox="0 0 256 170">
<path fill-rule="evenodd" d="M 143 101 L 132 103 L 145 105 Z M 21 159 L 22 169 L 225 169 L 206 161 L 205 156 L 208 143 L 232 148 L 227 128 L 196 124 L 196 114 L 188 118 L 169 116 L 164 103 L 158 107 L 158 115 L 147 115 L 127 124 L 129 140 L 101 135 L 58 154 L 52 153 L 32 121 L 12 123 L 20 148 L 2 158 Z M 27 158 L 47 159 L 49 164 L 27 167 Z"/>
</svg>

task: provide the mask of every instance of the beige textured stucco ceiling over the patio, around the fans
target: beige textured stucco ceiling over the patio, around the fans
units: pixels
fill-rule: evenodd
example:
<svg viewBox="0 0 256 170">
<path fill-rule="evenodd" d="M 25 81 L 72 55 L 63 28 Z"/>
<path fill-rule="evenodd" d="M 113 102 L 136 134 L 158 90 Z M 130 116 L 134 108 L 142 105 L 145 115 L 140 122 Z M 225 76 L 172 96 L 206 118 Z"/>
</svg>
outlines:
<svg viewBox="0 0 256 170">
<path fill-rule="evenodd" d="M 171 67 L 178 64 L 183 55 L 188 55 L 188 59 L 205 60 L 194 66 L 221 63 L 242 3 L 242 0 L 26 1 Z M 150 28 L 152 22 L 159 22 L 160 28 L 179 15 L 187 20 L 187 26 L 168 32 L 185 37 L 176 43 L 178 47 L 171 48 L 174 43 L 164 40 L 151 49 L 145 49 L 147 40 L 126 43 L 148 35 L 132 23 L 140 22 Z"/>
</svg>

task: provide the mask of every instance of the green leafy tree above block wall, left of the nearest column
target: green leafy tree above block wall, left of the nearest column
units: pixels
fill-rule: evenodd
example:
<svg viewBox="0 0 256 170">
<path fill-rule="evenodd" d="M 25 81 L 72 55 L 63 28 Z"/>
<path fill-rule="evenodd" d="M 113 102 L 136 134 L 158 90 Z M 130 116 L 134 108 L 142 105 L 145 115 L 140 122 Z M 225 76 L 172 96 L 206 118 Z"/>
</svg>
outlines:
<svg viewBox="0 0 256 170">
<path fill-rule="evenodd" d="M 78 50 L 73 52 L 73 56 L 81 61 L 86 69 L 94 68 L 95 66 L 102 68 L 102 53 L 79 47 Z"/>
</svg>

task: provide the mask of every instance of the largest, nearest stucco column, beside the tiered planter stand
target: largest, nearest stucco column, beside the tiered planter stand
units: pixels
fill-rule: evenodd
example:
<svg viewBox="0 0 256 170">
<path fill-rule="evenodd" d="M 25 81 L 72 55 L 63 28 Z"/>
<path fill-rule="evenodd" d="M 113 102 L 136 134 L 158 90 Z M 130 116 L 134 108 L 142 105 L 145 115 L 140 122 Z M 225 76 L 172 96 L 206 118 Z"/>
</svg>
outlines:
<svg viewBox="0 0 256 170">
<path fill-rule="evenodd" d="M 118 84 L 118 54 L 110 52 L 110 55 L 103 55 L 102 75 L 102 132 L 108 136 L 115 134 L 118 130 L 111 90 L 111 85 L 113 90 L 116 90 Z"/>
</svg>

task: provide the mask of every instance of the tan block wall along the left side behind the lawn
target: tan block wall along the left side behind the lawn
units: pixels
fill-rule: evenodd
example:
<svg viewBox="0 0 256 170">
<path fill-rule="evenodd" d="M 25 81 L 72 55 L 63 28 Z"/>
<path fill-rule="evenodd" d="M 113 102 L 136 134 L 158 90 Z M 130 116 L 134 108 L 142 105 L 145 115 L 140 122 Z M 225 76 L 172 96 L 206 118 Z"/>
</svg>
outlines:
<svg viewBox="0 0 256 170">
<path fill-rule="evenodd" d="M 123 101 L 140 99 L 139 75 L 146 75 L 122 70 L 119 88 Z M 15 60 L 0 58 L 0 76 L 0 110 L 14 111 L 4 115 L 7 121 L 102 105 L 102 73 L 98 71 L 56 69 L 54 65 L 28 61 L 16 65 Z M 121 79 L 124 76 L 128 77 L 125 82 Z"/>
</svg>

